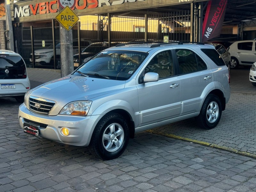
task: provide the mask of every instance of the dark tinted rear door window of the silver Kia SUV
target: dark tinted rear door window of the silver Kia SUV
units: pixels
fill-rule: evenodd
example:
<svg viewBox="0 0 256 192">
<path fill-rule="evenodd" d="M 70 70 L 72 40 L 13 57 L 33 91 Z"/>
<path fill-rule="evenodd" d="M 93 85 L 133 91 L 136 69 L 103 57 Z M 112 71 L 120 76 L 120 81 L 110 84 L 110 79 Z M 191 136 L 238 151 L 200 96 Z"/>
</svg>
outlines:
<svg viewBox="0 0 256 192">
<path fill-rule="evenodd" d="M 207 69 L 204 61 L 196 53 L 185 49 L 176 49 L 180 74 L 193 73 Z"/>
</svg>

